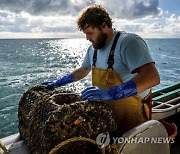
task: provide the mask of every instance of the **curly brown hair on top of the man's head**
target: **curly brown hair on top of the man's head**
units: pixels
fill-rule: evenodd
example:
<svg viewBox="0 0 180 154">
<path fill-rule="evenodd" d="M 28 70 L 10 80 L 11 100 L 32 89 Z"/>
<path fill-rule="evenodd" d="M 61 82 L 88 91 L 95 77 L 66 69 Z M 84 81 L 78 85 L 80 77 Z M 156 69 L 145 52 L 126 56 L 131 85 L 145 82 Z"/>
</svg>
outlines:
<svg viewBox="0 0 180 154">
<path fill-rule="evenodd" d="M 112 28 L 112 19 L 109 13 L 101 5 L 97 4 L 87 7 L 77 20 L 78 29 L 80 31 L 86 26 L 100 28 L 103 23 L 106 23 L 109 28 Z"/>
</svg>

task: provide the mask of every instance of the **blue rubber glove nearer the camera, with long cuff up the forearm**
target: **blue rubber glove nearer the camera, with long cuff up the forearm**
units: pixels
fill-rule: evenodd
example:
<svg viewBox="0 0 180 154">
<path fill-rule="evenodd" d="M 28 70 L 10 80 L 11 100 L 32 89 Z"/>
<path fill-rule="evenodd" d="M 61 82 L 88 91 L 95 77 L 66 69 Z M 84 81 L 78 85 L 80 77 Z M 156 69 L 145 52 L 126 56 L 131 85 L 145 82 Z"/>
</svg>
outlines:
<svg viewBox="0 0 180 154">
<path fill-rule="evenodd" d="M 114 86 L 109 89 L 102 89 L 98 87 L 89 87 L 82 91 L 82 100 L 119 100 L 137 94 L 136 84 L 133 80 L 125 82 L 121 85 Z"/>
</svg>

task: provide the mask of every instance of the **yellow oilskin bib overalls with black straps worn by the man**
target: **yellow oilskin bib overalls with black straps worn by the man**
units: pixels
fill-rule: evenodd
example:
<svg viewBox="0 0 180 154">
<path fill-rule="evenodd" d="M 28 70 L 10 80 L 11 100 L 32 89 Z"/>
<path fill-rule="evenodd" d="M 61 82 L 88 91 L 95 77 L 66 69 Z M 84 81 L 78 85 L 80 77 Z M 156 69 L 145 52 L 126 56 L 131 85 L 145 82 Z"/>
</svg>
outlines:
<svg viewBox="0 0 180 154">
<path fill-rule="evenodd" d="M 122 84 L 122 80 L 118 73 L 116 73 L 112 65 L 114 63 L 114 50 L 120 33 L 118 32 L 108 58 L 108 68 L 99 69 L 96 67 L 97 50 L 94 51 L 93 65 L 92 65 L 92 85 L 99 88 L 107 89 L 115 85 Z M 149 95 L 150 96 L 150 95 Z M 149 97 L 147 97 L 149 98 Z M 146 98 L 146 100 L 147 100 Z M 118 132 L 124 133 L 127 130 L 137 126 L 150 119 L 150 107 L 148 107 L 148 100 L 143 103 L 140 96 L 131 96 L 121 100 L 107 101 L 106 103 L 111 108 L 114 114 L 115 121 L 118 126 Z M 151 102 L 150 102 L 151 103 Z"/>
</svg>

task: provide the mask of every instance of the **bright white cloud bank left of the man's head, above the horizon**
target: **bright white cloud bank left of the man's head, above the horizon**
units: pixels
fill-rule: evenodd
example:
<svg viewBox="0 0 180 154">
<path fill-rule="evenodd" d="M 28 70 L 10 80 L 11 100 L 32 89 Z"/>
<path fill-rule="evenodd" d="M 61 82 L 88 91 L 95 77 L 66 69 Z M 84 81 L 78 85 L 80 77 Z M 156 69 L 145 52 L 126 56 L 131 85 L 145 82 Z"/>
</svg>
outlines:
<svg viewBox="0 0 180 154">
<path fill-rule="evenodd" d="M 72 17 L 63 16 L 31 16 L 0 10 L 0 32 L 66 32 L 76 31 L 76 22 Z"/>
</svg>

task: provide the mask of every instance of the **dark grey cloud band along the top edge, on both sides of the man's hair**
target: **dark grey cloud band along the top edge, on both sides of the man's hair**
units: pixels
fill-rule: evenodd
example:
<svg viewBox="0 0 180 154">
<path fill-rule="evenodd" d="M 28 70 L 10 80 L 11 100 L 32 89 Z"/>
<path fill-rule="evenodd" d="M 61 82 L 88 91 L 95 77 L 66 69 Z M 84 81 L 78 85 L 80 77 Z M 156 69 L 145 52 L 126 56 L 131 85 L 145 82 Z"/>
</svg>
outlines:
<svg viewBox="0 0 180 154">
<path fill-rule="evenodd" d="M 142 18 L 160 16 L 159 0 L 1 0 L 0 9 L 32 15 L 76 16 L 84 7 L 95 3 L 103 4 L 117 18 Z"/>
</svg>

